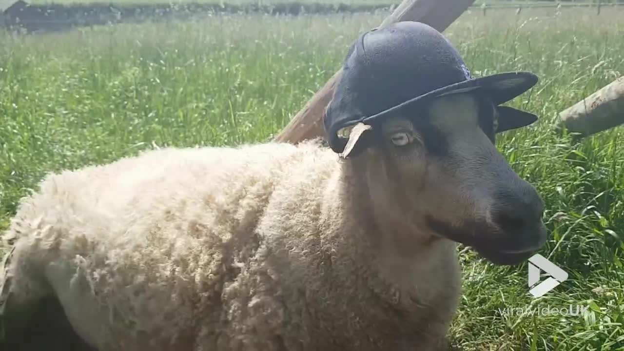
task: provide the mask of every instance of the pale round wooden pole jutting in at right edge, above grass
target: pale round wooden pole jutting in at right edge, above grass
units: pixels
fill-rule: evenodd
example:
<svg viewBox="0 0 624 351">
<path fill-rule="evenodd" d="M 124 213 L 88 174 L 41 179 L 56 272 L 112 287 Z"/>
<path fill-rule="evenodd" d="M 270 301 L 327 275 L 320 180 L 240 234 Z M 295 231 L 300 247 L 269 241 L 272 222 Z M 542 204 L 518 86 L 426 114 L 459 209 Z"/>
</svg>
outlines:
<svg viewBox="0 0 624 351">
<path fill-rule="evenodd" d="M 558 128 L 580 137 L 624 123 L 624 76 L 559 113 Z"/>
</svg>

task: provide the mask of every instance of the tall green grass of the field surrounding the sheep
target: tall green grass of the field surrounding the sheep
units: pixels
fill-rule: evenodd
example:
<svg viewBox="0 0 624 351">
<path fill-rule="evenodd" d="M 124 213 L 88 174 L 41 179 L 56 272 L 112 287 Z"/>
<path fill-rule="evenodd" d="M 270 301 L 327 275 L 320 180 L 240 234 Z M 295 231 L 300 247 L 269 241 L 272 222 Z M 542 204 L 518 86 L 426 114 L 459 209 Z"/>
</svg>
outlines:
<svg viewBox="0 0 624 351">
<path fill-rule="evenodd" d="M 550 239 L 540 253 L 570 279 L 532 299 L 526 264 L 497 267 L 462 250 L 464 295 L 452 340 L 464 351 L 622 351 L 622 129 L 573 144 L 552 122 L 557 111 L 624 75 L 624 12 L 495 13 L 467 12 L 447 34 L 476 76 L 530 70 L 541 77 L 512 102 L 540 121 L 497 144 L 544 197 Z M 0 229 L 45 172 L 155 145 L 270 139 L 339 67 L 353 38 L 382 16 L 229 16 L 0 35 Z M 588 310 L 499 312 L 570 305 Z"/>
</svg>

